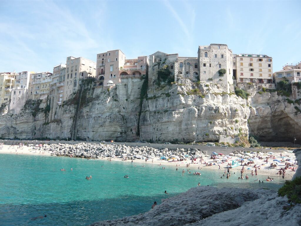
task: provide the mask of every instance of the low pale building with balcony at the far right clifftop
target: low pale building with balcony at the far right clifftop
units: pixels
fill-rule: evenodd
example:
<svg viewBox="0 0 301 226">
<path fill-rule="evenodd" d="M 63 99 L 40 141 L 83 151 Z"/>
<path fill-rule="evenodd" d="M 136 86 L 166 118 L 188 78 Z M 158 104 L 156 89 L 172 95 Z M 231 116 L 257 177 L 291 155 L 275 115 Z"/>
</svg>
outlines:
<svg viewBox="0 0 301 226">
<path fill-rule="evenodd" d="M 301 62 L 296 65 L 286 64 L 281 71 L 276 71 L 273 74 L 275 83 L 280 82 L 284 77 L 289 80 L 289 83 L 301 82 Z"/>
</svg>

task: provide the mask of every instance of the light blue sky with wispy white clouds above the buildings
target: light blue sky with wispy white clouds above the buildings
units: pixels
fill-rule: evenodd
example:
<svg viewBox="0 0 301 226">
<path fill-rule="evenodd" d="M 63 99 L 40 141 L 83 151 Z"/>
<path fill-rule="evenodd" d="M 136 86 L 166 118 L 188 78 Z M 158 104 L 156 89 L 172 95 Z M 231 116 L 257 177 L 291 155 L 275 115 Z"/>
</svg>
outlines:
<svg viewBox="0 0 301 226">
<path fill-rule="evenodd" d="M 67 56 L 96 61 L 158 50 L 196 57 L 199 45 L 273 57 L 273 71 L 301 61 L 301 1 L 1 0 L 0 71 L 51 71 Z"/>
</svg>

